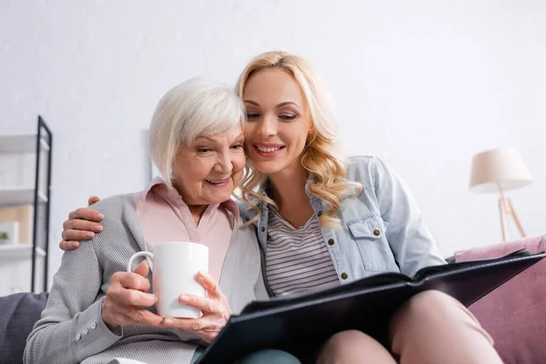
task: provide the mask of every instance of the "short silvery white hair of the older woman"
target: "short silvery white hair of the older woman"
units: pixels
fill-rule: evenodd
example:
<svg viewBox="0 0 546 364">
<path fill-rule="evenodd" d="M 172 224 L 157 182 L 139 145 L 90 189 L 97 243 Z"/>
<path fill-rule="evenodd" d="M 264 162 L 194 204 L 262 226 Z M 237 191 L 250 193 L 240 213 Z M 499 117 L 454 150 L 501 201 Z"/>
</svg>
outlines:
<svg viewBox="0 0 546 364">
<path fill-rule="evenodd" d="M 171 186 L 173 159 L 180 147 L 200 136 L 244 128 L 246 111 L 235 90 L 202 78 L 171 88 L 157 104 L 150 123 L 150 155 Z"/>
</svg>

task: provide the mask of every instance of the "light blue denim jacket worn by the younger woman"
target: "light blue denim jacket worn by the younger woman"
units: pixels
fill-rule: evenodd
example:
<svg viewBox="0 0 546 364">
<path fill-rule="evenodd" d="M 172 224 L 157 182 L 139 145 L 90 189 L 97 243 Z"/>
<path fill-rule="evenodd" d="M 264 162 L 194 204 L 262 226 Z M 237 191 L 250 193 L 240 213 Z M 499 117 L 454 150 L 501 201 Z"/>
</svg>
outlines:
<svg viewBox="0 0 546 364">
<path fill-rule="evenodd" d="M 362 192 L 341 204 L 337 214 L 341 227 L 322 228 L 341 283 L 384 272 L 413 276 L 420 268 L 445 264 L 409 188 L 392 169 L 377 157 L 350 157 L 346 172 L 349 181 L 362 185 Z M 309 192 L 308 197 L 320 215 L 322 201 Z M 264 263 L 269 210 L 265 202 L 258 207 L 262 216 L 254 224 Z M 239 208 L 246 219 L 256 216 L 246 204 Z"/>
</svg>

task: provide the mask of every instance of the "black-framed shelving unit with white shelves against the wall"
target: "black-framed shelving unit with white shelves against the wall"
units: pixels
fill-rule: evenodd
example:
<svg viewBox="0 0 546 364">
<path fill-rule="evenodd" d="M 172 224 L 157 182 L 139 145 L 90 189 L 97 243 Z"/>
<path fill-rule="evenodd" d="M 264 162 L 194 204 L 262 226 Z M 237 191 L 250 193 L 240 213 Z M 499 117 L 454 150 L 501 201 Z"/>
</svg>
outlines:
<svg viewBox="0 0 546 364">
<path fill-rule="evenodd" d="M 48 251 L 49 245 L 50 200 L 47 197 L 51 190 L 51 152 L 53 150 L 53 134 L 45 124 L 42 116 L 37 116 L 35 133 L 1 134 L 0 164 L 2 174 L 8 169 L 15 169 L 13 177 L 2 178 L 0 186 L 0 207 L 25 207 L 32 210 L 32 230 L 25 227 L 24 231 L 32 231 L 32 243 L 17 245 L 0 245 L 0 296 L 9 294 L 13 289 L 24 288 L 31 292 L 47 291 Z M 31 174 L 30 162 L 35 160 L 35 174 Z M 21 165 L 19 167 L 19 164 Z M 36 198 L 36 201 L 35 201 Z M 6 210 L 15 213 L 16 209 Z M 30 223 L 28 212 L 25 214 L 25 224 Z M 10 219 L 17 219 L 8 217 Z M 5 242 L 5 240 L 2 240 Z M 43 247 L 43 248 L 38 248 Z M 35 261 L 33 261 L 33 256 Z M 28 264 L 30 263 L 30 264 Z M 5 277 L 5 279 L 3 279 Z M 7 293 L 5 293 L 7 292 Z"/>
</svg>

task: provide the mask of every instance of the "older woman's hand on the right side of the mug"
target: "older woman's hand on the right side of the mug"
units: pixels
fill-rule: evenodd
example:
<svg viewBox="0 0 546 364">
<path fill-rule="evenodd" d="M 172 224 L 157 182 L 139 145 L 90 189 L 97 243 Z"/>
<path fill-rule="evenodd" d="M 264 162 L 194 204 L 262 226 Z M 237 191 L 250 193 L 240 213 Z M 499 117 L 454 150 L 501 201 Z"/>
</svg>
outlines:
<svg viewBox="0 0 546 364">
<path fill-rule="evenodd" d="M 197 280 L 207 289 L 208 298 L 182 295 L 178 300 L 185 305 L 199 308 L 203 312 L 203 316 L 199 319 L 166 318 L 163 321 L 163 325 L 170 328 L 187 330 L 196 334 L 208 344 L 226 326 L 227 320 L 231 316 L 231 308 L 229 308 L 227 298 L 220 291 L 214 278 L 205 272 L 199 272 Z"/>
</svg>

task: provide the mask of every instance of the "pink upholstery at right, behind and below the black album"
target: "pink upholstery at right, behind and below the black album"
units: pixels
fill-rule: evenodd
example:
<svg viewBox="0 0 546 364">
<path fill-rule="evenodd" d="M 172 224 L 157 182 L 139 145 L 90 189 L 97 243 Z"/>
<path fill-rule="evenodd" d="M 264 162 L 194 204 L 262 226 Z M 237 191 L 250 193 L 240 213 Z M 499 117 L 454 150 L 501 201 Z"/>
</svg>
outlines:
<svg viewBox="0 0 546 364">
<path fill-rule="evenodd" d="M 521 248 L 546 250 L 546 236 L 455 253 L 455 261 L 500 258 Z M 470 306 L 506 364 L 546 363 L 546 259 Z"/>
</svg>

